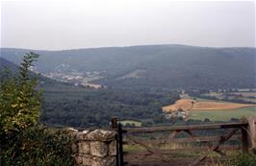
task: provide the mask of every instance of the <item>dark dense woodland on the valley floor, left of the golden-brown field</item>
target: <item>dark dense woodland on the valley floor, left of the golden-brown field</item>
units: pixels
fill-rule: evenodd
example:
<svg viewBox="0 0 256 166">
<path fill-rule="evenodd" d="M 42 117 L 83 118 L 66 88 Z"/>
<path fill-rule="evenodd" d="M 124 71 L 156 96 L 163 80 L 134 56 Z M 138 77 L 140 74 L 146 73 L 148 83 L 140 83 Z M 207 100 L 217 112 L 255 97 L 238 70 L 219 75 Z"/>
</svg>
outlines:
<svg viewBox="0 0 256 166">
<path fill-rule="evenodd" d="M 9 67 L 13 74 L 18 71 L 13 62 L 0 59 L 0 63 L 1 69 Z M 36 76 L 33 72 L 30 75 Z M 38 79 L 38 88 L 43 92 L 40 122 L 53 126 L 108 127 L 113 116 L 141 120 L 144 124 L 162 123 L 165 119 L 161 107 L 178 99 L 177 91 L 167 89 L 93 89 L 42 76 Z"/>
</svg>

